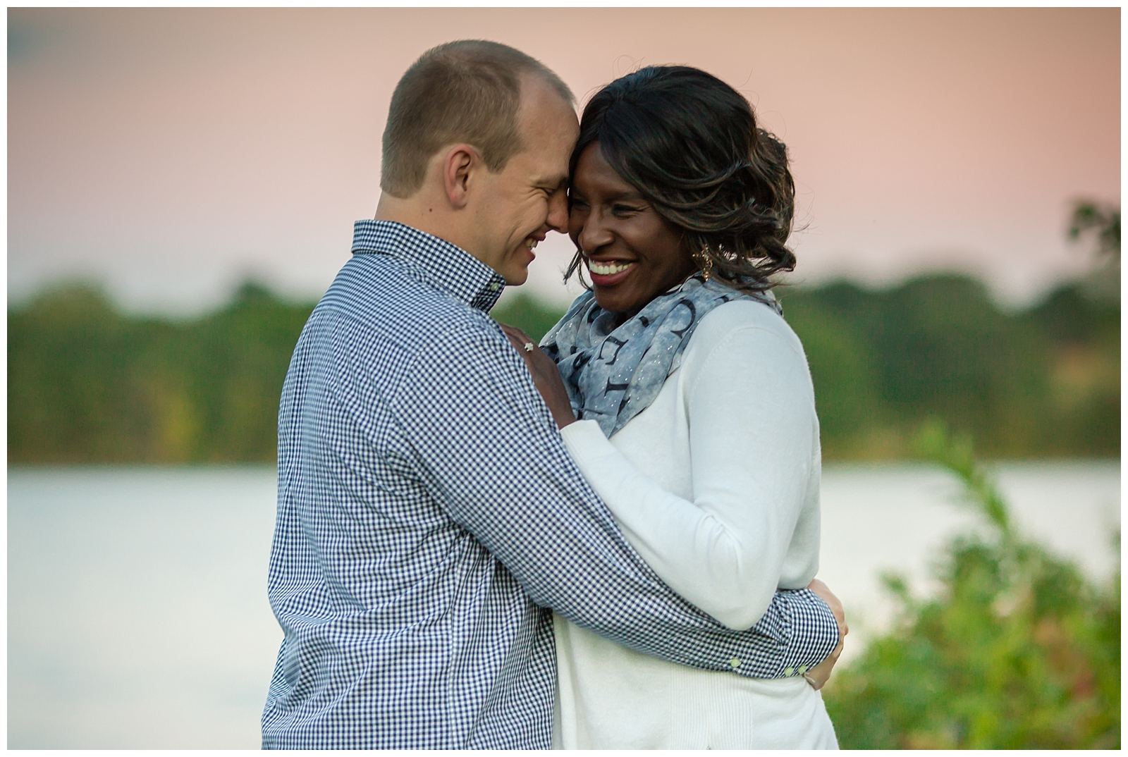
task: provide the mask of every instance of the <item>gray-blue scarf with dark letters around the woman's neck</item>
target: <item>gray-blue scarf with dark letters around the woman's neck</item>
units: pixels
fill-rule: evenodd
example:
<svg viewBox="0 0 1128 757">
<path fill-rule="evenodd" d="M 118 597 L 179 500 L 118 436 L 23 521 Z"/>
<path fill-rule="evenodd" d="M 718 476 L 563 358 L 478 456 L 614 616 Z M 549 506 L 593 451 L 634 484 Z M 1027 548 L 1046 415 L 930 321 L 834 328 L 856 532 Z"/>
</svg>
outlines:
<svg viewBox="0 0 1128 757">
<path fill-rule="evenodd" d="M 610 437 L 654 402 L 705 314 L 734 299 L 764 302 L 779 313 L 770 292 L 752 297 L 716 280 L 703 282 L 698 274 L 614 329 L 616 314 L 584 292 L 540 346 L 556 362 L 575 416 L 596 421 Z"/>
</svg>

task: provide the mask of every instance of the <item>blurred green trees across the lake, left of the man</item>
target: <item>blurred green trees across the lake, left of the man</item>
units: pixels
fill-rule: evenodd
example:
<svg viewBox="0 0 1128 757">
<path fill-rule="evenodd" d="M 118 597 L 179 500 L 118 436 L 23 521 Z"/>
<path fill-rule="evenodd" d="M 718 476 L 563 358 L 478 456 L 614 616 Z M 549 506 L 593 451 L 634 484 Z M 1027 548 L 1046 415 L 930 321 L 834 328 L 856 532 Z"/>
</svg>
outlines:
<svg viewBox="0 0 1128 757">
<path fill-rule="evenodd" d="M 9 463 L 275 459 L 282 380 L 312 308 L 245 284 L 188 323 L 123 316 L 89 287 L 9 311 Z"/>
</svg>

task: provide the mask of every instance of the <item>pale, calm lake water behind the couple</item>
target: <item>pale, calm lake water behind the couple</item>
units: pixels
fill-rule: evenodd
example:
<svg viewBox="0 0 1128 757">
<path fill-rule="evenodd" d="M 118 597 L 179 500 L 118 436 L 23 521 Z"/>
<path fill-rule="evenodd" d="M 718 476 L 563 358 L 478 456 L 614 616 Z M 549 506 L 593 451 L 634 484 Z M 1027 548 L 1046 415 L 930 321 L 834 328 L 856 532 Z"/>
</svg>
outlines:
<svg viewBox="0 0 1128 757">
<path fill-rule="evenodd" d="M 1094 578 L 1119 564 L 1120 464 L 998 467 L 1017 523 Z M 826 466 L 822 578 L 848 653 L 889 619 L 883 570 L 927 566 L 976 517 L 924 465 Z M 245 748 L 281 632 L 266 601 L 268 467 L 8 472 L 8 747 Z"/>
</svg>

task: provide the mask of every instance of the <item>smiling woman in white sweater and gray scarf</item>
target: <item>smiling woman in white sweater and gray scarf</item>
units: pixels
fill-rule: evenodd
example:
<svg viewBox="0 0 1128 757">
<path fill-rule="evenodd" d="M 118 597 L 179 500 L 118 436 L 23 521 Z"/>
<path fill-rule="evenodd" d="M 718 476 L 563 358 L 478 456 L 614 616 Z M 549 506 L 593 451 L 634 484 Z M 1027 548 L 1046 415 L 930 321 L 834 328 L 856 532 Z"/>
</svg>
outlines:
<svg viewBox="0 0 1128 757">
<path fill-rule="evenodd" d="M 588 104 L 571 168 L 567 275 L 585 267 L 591 290 L 541 341 L 558 373 L 531 344 L 522 355 L 635 549 L 687 600 L 749 628 L 777 587 L 818 569 L 813 390 L 770 292 L 795 261 L 786 150 L 721 80 L 647 67 Z M 805 670 L 751 679 L 559 616 L 555 632 L 557 747 L 837 747 Z"/>
</svg>

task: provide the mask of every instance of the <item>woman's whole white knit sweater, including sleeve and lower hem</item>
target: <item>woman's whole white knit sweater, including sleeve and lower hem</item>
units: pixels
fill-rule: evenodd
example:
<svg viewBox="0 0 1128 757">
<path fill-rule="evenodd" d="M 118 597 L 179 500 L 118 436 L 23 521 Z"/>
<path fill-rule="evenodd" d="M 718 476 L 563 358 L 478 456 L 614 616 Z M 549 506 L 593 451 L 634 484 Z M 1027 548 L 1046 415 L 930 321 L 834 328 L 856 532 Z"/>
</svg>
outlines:
<svg viewBox="0 0 1128 757">
<path fill-rule="evenodd" d="M 594 421 L 562 431 L 640 555 L 732 628 L 799 589 L 819 557 L 819 425 L 807 359 L 770 308 L 728 302 L 611 440 Z M 698 670 L 555 618 L 557 748 L 835 748 L 804 671 L 778 680 Z"/>
</svg>

